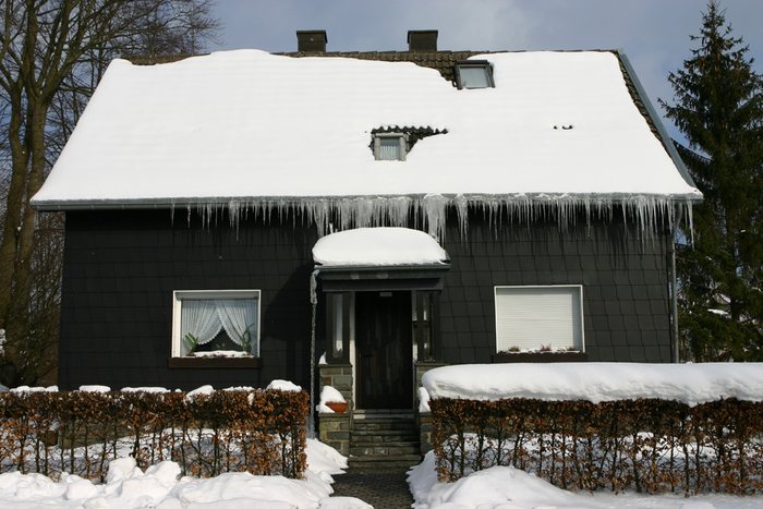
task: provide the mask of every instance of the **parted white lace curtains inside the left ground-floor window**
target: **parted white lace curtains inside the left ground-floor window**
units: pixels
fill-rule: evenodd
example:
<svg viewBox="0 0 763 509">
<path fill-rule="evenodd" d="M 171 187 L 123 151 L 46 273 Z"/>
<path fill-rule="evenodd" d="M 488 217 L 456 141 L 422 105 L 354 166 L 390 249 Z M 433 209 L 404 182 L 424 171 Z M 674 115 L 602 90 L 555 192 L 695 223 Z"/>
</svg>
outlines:
<svg viewBox="0 0 763 509">
<path fill-rule="evenodd" d="M 206 344 L 225 328 L 228 337 L 250 353 L 257 352 L 257 315 L 252 299 L 184 299 L 181 307 L 181 355 L 187 355 L 189 334 Z"/>
</svg>

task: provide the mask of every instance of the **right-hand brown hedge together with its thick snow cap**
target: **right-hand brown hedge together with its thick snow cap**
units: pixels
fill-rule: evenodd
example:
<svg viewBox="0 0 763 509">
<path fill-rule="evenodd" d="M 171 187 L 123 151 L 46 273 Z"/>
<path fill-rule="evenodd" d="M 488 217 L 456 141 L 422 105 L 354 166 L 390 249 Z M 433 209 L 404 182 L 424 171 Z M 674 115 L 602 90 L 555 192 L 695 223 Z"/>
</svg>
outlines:
<svg viewBox="0 0 763 509">
<path fill-rule="evenodd" d="M 428 372 L 441 481 L 514 465 L 567 489 L 763 490 L 763 364 Z"/>
</svg>

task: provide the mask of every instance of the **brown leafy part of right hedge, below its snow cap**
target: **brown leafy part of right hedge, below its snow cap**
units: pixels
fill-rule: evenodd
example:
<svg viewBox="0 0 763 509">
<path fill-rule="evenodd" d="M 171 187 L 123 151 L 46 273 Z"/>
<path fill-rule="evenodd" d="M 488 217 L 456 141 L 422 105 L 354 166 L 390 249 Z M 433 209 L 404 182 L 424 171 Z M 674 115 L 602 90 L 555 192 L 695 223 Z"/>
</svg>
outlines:
<svg viewBox="0 0 763 509">
<path fill-rule="evenodd" d="M 431 401 L 440 481 L 513 465 L 566 489 L 760 493 L 763 403 Z"/>
</svg>

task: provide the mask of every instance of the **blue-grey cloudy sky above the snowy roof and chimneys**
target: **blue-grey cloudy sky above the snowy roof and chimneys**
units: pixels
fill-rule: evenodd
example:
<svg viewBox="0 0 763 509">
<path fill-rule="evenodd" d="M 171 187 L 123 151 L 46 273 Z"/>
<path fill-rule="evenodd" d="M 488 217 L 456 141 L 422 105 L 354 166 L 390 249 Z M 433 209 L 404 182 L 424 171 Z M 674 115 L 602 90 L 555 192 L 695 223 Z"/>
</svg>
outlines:
<svg viewBox="0 0 763 509">
<path fill-rule="evenodd" d="M 763 72 L 763 0 L 723 0 L 734 34 Z M 656 107 L 667 75 L 697 43 L 706 0 L 217 0 L 210 49 L 296 49 L 298 29 L 328 32 L 328 50 L 405 50 L 409 29 L 439 31 L 439 49 L 620 48 Z M 671 133 L 673 126 L 668 125 Z"/>
</svg>

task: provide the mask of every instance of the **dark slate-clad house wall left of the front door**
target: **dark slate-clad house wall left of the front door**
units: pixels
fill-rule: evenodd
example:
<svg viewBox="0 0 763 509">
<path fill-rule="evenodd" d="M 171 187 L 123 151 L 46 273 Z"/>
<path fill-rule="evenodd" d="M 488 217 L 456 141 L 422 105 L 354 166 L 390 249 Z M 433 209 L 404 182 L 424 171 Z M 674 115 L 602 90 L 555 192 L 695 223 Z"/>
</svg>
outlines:
<svg viewBox="0 0 763 509">
<path fill-rule="evenodd" d="M 59 383 L 193 389 L 308 384 L 314 228 L 185 210 L 70 211 Z M 169 368 L 173 290 L 262 291 L 259 368 Z"/>
</svg>

